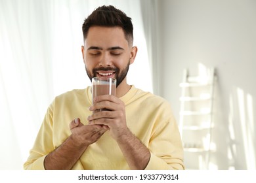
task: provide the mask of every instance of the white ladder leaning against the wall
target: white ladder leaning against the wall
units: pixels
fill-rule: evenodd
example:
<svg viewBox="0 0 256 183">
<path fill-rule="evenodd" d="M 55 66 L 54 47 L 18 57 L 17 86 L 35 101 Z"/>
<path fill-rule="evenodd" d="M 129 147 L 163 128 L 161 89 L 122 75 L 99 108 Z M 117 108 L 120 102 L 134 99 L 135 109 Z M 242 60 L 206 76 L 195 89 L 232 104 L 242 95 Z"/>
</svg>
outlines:
<svg viewBox="0 0 256 183">
<path fill-rule="evenodd" d="M 180 84 L 179 129 L 184 146 L 184 162 L 188 169 L 209 169 L 214 86 L 214 68 L 206 69 L 198 76 L 190 76 L 188 69 L 184 69 Z M 192 154 L 196 158 L 192 158 Z"/>
</svg>

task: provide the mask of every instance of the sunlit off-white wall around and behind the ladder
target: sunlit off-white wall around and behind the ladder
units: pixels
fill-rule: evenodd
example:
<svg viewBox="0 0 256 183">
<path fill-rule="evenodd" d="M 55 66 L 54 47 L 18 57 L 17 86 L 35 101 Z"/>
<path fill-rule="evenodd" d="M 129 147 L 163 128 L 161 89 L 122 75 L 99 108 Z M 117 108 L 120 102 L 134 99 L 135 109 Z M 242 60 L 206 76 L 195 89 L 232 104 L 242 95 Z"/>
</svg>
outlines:
<svg viewBox="0 0 256 183">
<path fill-rule="evenodd" d="M 256 1 L 161 0 L 158 61 L 161 92 L 179 122 L 182 69 L 217 69 L 215 169 L 256 169 Z M 186 161 L 190 161 L 186 159 Z"/>
</svg>

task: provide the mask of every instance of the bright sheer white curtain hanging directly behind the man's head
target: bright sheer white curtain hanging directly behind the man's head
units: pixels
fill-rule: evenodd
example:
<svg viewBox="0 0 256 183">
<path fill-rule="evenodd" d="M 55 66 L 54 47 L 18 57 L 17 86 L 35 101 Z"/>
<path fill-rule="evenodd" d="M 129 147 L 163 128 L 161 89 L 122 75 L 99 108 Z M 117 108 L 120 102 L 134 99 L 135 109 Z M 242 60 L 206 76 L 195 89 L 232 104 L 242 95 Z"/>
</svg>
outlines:
<svg viewBox="0 0 256 183">
<path fill-rule="evenodd" d="M 22 169 L 56 95 L 85 88 L 83 20 L 100 5 L 133 19 L 139 53 L 129 84 L 152 92 L 140 1 L 0 0 L 0 169 Z"/>
</svg>

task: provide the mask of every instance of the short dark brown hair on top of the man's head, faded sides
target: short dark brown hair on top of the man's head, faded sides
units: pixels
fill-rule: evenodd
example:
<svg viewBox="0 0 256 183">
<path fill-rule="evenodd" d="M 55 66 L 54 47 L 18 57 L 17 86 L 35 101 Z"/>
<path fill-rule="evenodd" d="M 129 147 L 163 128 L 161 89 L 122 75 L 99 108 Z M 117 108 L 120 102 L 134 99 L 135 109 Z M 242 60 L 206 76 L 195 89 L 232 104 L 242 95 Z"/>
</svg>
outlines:
<svg viewBox="0 0 256 183">
<path fill-rule="evenodd" d="M 84 41 L 87 38 L 89 28 L 92 26 L 121 27 L 125 33 L 125 39 L 127 39 L 129 44 L 133 44 L 133 24 L 131 18 L 112 5 L 96 8 L 85 19 L 82 27 Z"/>
</svg>

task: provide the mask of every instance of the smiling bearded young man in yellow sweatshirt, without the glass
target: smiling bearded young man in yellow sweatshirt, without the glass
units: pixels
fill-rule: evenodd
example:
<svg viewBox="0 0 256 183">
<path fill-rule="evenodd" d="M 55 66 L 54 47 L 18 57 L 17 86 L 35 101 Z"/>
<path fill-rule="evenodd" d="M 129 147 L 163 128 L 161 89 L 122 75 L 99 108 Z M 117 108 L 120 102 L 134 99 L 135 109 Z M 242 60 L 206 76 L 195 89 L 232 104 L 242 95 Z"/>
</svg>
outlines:
<svg viewBox="0 0 256 183">
<path fill-rule="evenodd" d="M 127 84 L 134 62 L 133 24 L 121 10 L 98 7 L 83 23 L 90 79 L 117 79 L 116 96 L 91 87 L 56 97 L 24 169 L 184 169 L 179 129 L 167 101 Z M 108 111 L 95 112 L 100 108 Z"/>
</svg>

